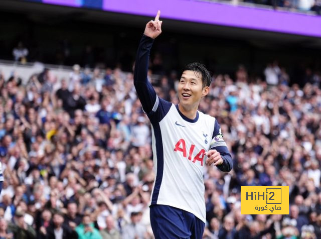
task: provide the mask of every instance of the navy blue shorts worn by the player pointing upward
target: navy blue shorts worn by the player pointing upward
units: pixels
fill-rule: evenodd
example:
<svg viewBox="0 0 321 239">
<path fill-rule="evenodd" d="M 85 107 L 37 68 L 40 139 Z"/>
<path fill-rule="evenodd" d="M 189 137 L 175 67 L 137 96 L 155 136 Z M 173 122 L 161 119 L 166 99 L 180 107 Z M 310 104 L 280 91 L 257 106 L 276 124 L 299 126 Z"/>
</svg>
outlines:
<svg viewBox="0 0 321 239">
<path fill-rule="evenodd" d="M 155 239 L 201 239 L 205 227 L 193 213 L 167 205 L 150 206 L 150 224 Z"/>
</svg>

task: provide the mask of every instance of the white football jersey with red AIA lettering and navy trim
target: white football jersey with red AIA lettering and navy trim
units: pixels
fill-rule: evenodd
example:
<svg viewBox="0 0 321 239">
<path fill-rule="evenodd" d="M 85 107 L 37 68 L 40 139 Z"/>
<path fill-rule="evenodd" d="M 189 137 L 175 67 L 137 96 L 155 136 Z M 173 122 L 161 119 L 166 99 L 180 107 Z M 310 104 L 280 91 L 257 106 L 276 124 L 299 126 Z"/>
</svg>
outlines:
<svg viewBox="0 0 321 239">
<path fill-rule="evenodd" d="M 205 153 L 226 146 L 216 119 L 200 111 L 194 120 L 158 98 L 148 114 L 156 174 L 150 204 L 177 207 L 206 222 Z"/>
</svg>

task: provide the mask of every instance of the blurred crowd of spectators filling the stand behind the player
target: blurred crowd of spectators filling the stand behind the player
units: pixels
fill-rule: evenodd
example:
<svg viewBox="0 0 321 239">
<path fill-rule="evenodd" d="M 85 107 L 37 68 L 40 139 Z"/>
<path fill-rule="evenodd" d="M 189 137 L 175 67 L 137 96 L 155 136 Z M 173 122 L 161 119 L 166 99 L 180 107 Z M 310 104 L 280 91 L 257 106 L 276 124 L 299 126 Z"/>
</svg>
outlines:
<svg viewBox="0 0 321 239">
<path fill-rule="evenodd" d="M 177 77 L 149 73 L 177 104 Z M 276 63 L 264 74 L 213 76 L 200 104 L 234 160 L 230 173 L 205 166 L 204 238 L 321 238 L 320 78 L 290 86 Z M 68 79 L 20 77 L 0 74 L 0 238 L 152 238 L 150 127 L 133 74 L 75 65 Z M 288 185 L 289 215 L 242 215 L 241 185 Z"/>
</svg>

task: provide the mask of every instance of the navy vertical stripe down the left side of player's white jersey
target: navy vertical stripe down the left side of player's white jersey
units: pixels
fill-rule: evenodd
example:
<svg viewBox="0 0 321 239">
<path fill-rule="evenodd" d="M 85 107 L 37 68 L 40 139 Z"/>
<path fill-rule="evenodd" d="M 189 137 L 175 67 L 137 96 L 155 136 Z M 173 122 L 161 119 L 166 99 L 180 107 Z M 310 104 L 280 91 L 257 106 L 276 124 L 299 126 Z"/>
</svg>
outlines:
<svg viewBox="0 0 321 239">
<path fill-rule="evenodd" d="M 155 147 L 156 147 L 156 157 L 157 157 L 157 172 L 154 190 L 151 197 L 151 205 L 157 203 L 159 189 L 161 189 L 161 184 L 163 180 L 163 171 L 164 171 L 164 152 L 163 152 L 163 140 L 162 132 L 159 123 L 152 124 L 155 136 Z"/>
</svg>

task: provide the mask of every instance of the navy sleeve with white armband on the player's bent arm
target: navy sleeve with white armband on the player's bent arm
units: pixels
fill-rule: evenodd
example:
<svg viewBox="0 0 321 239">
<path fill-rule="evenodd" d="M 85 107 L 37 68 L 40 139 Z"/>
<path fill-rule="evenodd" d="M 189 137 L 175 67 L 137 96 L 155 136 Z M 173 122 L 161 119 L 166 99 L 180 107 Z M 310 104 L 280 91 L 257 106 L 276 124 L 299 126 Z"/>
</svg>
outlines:
<svg viewBox="0 0 321 239">
<path fill-rule="evenodd" d="M 223 159 L 223 164 L 217 165 L 217 168 L 223 172 L 231 171 L 233 167 L 232 156 L 227 148 L 226 143 L 223 140 L 221 127 L 216 120 L 210 148 L 215 149 L 217 152 L 219 152 Z"/>
</svg>

